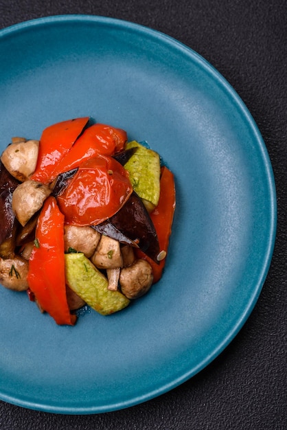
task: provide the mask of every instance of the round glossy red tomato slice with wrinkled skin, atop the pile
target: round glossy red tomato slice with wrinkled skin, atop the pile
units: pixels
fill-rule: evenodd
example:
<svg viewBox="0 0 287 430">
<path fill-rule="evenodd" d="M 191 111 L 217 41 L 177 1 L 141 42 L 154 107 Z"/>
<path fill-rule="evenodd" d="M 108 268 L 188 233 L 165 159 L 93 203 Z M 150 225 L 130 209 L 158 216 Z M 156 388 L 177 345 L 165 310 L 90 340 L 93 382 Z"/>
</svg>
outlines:
<svg viewBox="0 0 287 430">
<path fill-rule="evenodd" d="M 84 161 L 58 196 L 67 224 L 97 225 L 113 216 L 133 187 L 124 167 L 112 157 L 97 155 Z"/>
</svg>

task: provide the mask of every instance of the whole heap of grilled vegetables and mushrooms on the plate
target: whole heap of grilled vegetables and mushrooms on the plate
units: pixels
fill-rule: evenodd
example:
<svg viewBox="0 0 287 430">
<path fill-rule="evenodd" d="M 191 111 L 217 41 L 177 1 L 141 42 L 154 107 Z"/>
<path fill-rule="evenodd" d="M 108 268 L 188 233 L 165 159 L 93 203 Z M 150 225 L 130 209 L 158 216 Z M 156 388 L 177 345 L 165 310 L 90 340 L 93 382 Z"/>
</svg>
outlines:
<svg viewBox="0 0 287 430">
<path fill-rule="evenodd" d="M 0 282 L 56 324 L 110 315 L 162 275 L 174 175 L 157 152 L 89 117 L 13 137 L 0 163 Z"/>
</svg>

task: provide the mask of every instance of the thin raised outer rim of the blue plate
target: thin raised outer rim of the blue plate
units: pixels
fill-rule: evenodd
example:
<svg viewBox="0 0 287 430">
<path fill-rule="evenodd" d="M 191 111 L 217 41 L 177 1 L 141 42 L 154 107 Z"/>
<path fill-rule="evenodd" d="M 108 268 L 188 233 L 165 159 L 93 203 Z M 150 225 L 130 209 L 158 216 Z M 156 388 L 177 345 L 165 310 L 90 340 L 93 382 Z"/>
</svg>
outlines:
<svg viewBox="0 0 287 430">
<path fill-rule="evenodd" d="M 216 349 L 209 354 L 209 357 L 206 357 L 205 360 L 198 363 L 196 367 L 193 367 L 189 372 L 181 375 L 179 378 L 173 378 L 172 382 L 168 383 L 165 386 L 158 387 L 154 389 L 152 392 L 146 393 L 145 396 L 133 398 L 133 400 L 125 400 L 122 403 L 118 404 L 110 404 L 102 407 L 57 407 L 56 405 L 45 405 L 44 403 L 34 403 L 29 400 L 21 400 L 16 397 L 6 396 L 0 393 L 0 398 L 8 403 L 12 403 L 14 405 L 18 405 L 20 407 L 26 407 L 28 409 L 34 409 L 39 411 L 47 411 L 56 414 L 97 414 L 104 413 L 107 411 L 116 411 L 119 409 L 126 409 L 127 407 L 132 407 L 134 405 L 138 405 L 140 403 L 146 402 L 164 394 L 165 392 L 178 387 L 185 381 L 189 380 L 198 372 L 202 371 L 209 365 L 216 357 L 220 355 L 220 353 L 227 348 L 229 343 L 238 335 L 242 326 L 246 323 L 247 319 L 251 315 L 255 304 L 257 303 L 257 299 L 260 296 L 262 288 L 264 286 L 264 282 L 268 275 L 268 271 L 271 266 L 271 260 L 273 258 L 273 251 L 275 247 L 276 240 L 276 231 L 277 231 L 277 197 L 276 197 L 276 188 L 275 188 L 275 178 L 273 174 L 273 168 L 271 165 L 271 159 L 268 155 L 268 150 L 266 148 L 266 144 L 264 143 L 264 139 L 260 133 L 260 130 L 253 119 L 249 109 L 246 104 L 244 104 L 240 95 L 236 92 L 236 90 L 229 84 L 227 79 L 222 76 L 222 74 L 213 66 L 209 61 L 207 61 L 203 56 L 198 54 L 198 52 L 194 51 L 191 47 L 185 45 L 181 41 L 177 41 L 172 36 L 160 32 L 159 30 L 154 30 L 146 25 L 141 25 L 139 23 L 133 23 L 131 21 L 126 21 L 124 19 L 117 19 L 109 16 L 98 16 L 91 14 L 59 14 L 59 15 L 51 15 L 51 16 L 43 16 L 36 19 L 30 19 L 27 21 L 23 21 L 21 23 L 16 23 L 10 25 L 9 27 L 5 27 L 0 29 L 0 41 L 5 38 L 5 36 L 13 36 L 13 34 L 17 34 L 23 30 L 31 30 L 33 27 L 41 27 L 41 25 L 46 24 L 56 24 L 56 23 L 73 23 L 73 22 L 82 22 L 82 23 L 93 23 L 94 25 L 105 25 L 105 26 L 113 26 L 120 29 L 127 30 L 129 29 L 132 32 L 140 32 L 143 36 L 149 35 L 152 38 L 157 38 L 161 43 L 168 43 L 170 47 L 173 47 L 176 50 L 180 50 L 185 55 L 192 58 L 192 60 L 196 60 L 196 63 L 200 64 L 200 67 L 203 67 L 209 76 L 213 76 L 216 82 L 220 83 L 222 87 L 225 88 L 225 91 L 229 93 L 231 98 L 236 101 L 238 105 L 238 109 L 240 109 L 240 113 L 244 114 L 244 118 L 246 122 L 248 122 L 249 126 L 252 129 L 252 133 L 255 137 L 256 144 L 260 148 L 260 155 L 262 157 L 262 163 L 266 172 L 266 183 L 268 183 L 268 190 L 270 192 L 270 210 L 272 212 L 272 216 L 270 219 L 270 227 L 268 229 L 268 247 L 266 247 L 264 254 L 264 264 L 262 264 L 262 268 L 260 270 L 260 278 L 257 279 L 256 285 L 253 288 L 253 295 L 250 297 L 249 302 L 244 307 L 245 312 L 242 313 L 241 317 L 236 319 L 237 324 L 233 326 L 233 330 L 230 330 L 228 336 L 222 340 L 220 345 Z M 266 239 L 267 241 L 267 239 Z"/>
</svg>

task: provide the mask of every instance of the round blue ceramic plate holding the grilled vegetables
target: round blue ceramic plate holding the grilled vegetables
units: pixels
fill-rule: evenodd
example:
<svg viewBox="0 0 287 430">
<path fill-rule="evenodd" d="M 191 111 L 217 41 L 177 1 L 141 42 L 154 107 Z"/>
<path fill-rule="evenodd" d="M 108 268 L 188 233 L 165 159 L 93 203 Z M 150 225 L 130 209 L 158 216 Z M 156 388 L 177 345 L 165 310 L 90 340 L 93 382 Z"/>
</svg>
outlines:
<svg viewBox="0 0 287 430">
<path fill-rule="evenodd" d="M 257 126 L 203 58 L 133 23 L 29 21 L 0 32 L 0 59 L 1 150 L 90 115 L 148 141 L 177 190 L 163 278 L 121 313 L 60 327 L 25 293 L 0 289 L 0 398 L 94 414 L 159 396 L 229 344 L 266 278 L 275 186 Z"/>
</svg>

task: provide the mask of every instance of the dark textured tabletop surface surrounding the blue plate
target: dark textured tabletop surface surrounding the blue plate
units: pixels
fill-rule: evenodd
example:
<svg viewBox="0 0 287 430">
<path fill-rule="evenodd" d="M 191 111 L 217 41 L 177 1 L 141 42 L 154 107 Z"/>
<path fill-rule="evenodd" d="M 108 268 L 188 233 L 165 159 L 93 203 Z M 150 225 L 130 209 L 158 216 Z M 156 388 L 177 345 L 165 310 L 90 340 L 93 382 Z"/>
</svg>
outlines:
<svg viewBox="0 0 287 430">
<path fill-rule="evenodd" d="M 286 1 L 0 0 L 0 27 L 71 13 L 152 27 L 194 49 L 227 78 L 257 122 L 273 164 L 278 202 L 275 252 L 244 328 L 190 381 L 148 403 L 92 416 L 46 414 L 0 402 L 0 429 L 286 430 Z"/>
</svg>

